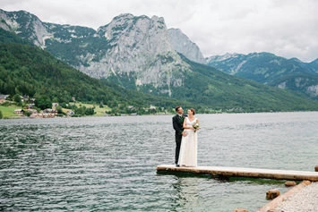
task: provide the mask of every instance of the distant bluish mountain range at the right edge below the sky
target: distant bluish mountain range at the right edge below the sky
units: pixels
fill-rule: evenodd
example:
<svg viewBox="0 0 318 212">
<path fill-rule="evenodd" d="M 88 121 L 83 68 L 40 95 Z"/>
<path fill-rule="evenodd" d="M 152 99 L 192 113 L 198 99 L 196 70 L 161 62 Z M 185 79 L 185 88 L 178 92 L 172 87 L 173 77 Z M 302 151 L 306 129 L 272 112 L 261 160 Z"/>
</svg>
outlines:
<svg viewBox="0 0 318 212">
<path fill-rule="evenodd" d="M 302 92 L 318 99 L 318 59 L 303 63 L 271 53 L 215 55 L 207 64 L 231 75 L 258 81 L 280 89 Z"/>
</svg>

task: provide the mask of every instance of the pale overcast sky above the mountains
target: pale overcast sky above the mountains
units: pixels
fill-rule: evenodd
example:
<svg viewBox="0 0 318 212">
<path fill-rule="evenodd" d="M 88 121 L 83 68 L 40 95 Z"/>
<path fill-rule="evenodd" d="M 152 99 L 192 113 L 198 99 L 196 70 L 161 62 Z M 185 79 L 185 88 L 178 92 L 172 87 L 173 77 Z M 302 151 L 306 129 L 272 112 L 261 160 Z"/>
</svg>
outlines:
<svg viewBox="0 0 318 212">
<path fill-rule="evenodd" d="M 318 0 L 0 0 L 0 8 L 95 30 L 121 13 L 157 15 L 205 57 L 270 52 L 304 62 L 318 58 Z"/>
</svg>

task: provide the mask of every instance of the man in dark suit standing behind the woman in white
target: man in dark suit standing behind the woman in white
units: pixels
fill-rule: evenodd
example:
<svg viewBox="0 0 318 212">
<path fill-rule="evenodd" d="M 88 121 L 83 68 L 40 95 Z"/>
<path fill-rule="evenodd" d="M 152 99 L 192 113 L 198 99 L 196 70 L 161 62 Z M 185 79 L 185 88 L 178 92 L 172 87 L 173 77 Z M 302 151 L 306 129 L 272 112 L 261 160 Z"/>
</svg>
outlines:
<svg viewBox="0 0 318 212">
<path fill-rule="evenodd" d="M 176 106 L 176 115 L 172 117 L 172 124 L 174 126 L 174 129 L 176 131 L 176 156 L 175 156 L 175 164 L 178 167 L 177 164 L 179 160 L 179 152 L 181 147 L 181 140 L 182 136 L 185 136 L 186 133 L 184 131 L 184 120 L 186 115 L 184 114 L 184 110 L 181 106 Z"/>
</svg>

